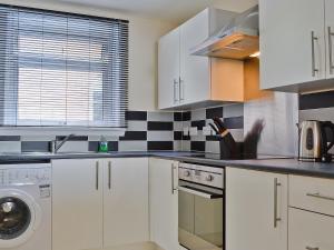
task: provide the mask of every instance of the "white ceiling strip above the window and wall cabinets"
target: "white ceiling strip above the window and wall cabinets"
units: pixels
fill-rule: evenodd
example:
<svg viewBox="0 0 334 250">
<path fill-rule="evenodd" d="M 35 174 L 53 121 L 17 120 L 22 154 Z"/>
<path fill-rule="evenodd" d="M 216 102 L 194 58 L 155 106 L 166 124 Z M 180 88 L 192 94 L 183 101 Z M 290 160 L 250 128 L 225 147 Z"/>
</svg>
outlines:
<svg viewBox="0 0 334 250">
<path fill-rule="evenodd" d="M 57 0 L 97 8 L 108 8 L 136 13 L 174 23 L 183 22 L 206 7 L 230 11 L 244 11 L 258 0 Z"/>
</svg>

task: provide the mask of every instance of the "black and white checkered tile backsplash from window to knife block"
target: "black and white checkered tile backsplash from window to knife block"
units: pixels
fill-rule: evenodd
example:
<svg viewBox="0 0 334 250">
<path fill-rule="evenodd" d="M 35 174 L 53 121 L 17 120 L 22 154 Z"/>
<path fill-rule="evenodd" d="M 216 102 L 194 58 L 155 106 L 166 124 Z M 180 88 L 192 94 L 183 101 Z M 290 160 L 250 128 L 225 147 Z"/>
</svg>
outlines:
<svg viewBox="0 0 334 250">
<path fill-rule="evenodd" d="M 214 136 L 204 136 L 203 127 L 212 118 L 224 119 L 237 141 L 243 140 L 243 104 L 186 112 L 128 111 L 124 137 L 107 137 L 110 151 L 194 150 L 218 152 Z M 184 128 L 197 128 L 197 136 L 185 136 Z M 48 151 L 49 141 L 63 137 L 0 136 L 0 152 Z M 60 151 L 97 151 L 100 137 L 76 136 Z"/>
</svg>

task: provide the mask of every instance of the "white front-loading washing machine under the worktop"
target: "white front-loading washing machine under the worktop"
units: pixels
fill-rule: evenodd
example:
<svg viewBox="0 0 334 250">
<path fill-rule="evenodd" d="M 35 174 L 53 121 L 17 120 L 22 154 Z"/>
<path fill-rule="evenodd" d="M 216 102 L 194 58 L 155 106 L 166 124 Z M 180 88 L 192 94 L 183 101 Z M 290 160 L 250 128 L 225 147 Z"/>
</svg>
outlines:
<svg viewBox="0 0 334 250">
<path fill-rule="evenodd" d="M 0 163 L 0 250 L 51 250 L 51 163 Z"/>
</svg>

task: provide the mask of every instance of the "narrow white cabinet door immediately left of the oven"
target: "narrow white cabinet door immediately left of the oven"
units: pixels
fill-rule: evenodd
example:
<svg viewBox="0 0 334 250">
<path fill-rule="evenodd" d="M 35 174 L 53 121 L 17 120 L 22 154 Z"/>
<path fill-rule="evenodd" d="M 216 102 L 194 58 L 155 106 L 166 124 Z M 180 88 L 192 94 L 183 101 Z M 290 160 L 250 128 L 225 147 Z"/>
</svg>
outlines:
<svg viewBox="0 0 334 250">
<path fill-rule="evenodd" d="M 150 240 L 166 250 L 180 249 L 176 162 L 149 159 Z M 173 179 L 174 178 L 174 179 Z"/>
</svg>

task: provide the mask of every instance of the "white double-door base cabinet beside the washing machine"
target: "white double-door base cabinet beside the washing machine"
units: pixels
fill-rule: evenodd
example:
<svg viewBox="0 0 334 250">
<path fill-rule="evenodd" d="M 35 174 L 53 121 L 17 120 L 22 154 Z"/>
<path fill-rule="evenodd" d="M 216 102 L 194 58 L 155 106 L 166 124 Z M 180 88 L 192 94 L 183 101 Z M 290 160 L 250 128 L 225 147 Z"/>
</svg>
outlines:
<svg viewBox="0 0 334 250">
<path fill-rule="evenodd" d="M 53 250 L 148 241 L 148 160 L 52 161 Z"/>
</svg>

